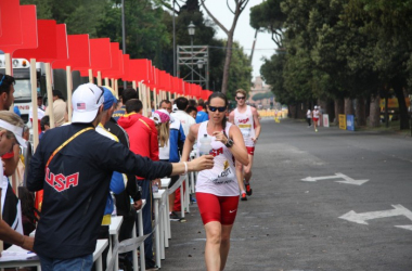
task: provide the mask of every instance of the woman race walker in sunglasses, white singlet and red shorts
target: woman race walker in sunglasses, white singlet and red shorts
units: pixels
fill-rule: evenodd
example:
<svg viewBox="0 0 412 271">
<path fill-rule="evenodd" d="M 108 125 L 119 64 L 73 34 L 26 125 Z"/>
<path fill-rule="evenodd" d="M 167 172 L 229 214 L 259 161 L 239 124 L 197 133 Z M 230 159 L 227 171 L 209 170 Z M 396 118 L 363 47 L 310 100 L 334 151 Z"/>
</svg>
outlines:
<svg viewBox="0 0 412 271">
<path fill-rule="evenodd" d="M 182 160 L 186 160 L 197 140 L 207 134 L 211 140 L 210 154 L 215 157 L 211 169 L 198 172 L 196 199 L 206 230 L 205 260 L 208 271 L 223 270 L 230 248 L 230 233 L 236 217 L 239 185 L 234 162 L 247 166 L 248 156 L 241 130 L 226 119 L 228 99 L 221 92 L 208 99 L 209 120 L 190 128 L 184 142 Z"/>
</svg>

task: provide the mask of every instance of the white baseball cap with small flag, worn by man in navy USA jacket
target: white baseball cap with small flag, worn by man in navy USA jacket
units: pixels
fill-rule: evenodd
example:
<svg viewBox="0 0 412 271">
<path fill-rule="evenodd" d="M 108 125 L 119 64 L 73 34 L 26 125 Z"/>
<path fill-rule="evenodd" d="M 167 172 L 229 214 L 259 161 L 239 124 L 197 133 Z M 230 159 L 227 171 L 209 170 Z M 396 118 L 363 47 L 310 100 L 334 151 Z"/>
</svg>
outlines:
<svg viewBox="0 0 412 271">
<path fill-rule="evenodd" d="M 104 102 L 104 91 L 94 83 L 80 85 L 72 96 L 72 122 L 89 124 L 98 115 Z"/>
</svg>

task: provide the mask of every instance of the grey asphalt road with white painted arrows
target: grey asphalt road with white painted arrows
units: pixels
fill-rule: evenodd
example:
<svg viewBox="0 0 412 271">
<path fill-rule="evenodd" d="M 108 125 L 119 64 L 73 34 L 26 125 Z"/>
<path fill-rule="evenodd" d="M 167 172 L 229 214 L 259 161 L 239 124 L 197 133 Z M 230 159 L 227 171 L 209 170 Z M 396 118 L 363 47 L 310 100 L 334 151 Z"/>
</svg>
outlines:
<svg viewBox="0 0 412 271">
<path fill-rule="evenodd" d="M 226 270 L 412 270 L 412 229 L 396 227 L 412 227 L 411 138 L 268 119 L 253 169 Z M 369 181 L 301 181 L 336 172 Z M 339 218 L 351 210 L 368 224 Z M 197 207 L 171 229 L 162 270 L 206 270 Z"/>
</svg>

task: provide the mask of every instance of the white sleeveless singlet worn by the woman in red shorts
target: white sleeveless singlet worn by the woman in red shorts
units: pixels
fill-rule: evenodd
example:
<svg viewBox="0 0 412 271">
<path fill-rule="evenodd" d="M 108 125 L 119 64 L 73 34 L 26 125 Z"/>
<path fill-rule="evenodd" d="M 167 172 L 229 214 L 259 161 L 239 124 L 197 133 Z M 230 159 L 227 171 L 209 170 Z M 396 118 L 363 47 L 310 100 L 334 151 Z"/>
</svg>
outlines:
<svg viewBox="0 0 412 271">
<path fill-rule="evenodd" d="M 201 138 L 207 134 L 207 124 L 204 121 L 198 127 L 197 132 L 197 156 L 201 150 Z M 231 124 L 227 122 L 226 133 L 229 136 Z M 196 181 L 196 192 L 209 193 L 217 196 L 239 196 L 239 185 L 234 167 L 234 157 L 229 149 L 216 141 L 215 137 L 207 134 L 211 139 L 211 154 L 215 156 L 215 165 L 211 169 L 198 172 Z"/>
</svg>

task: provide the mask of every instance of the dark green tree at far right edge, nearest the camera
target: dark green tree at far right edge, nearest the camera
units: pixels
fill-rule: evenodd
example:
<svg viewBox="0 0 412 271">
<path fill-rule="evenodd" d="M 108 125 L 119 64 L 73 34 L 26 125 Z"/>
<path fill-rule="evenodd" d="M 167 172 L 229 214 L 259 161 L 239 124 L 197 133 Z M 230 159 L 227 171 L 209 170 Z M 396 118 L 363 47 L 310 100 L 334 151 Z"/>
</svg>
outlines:
<svg viewBox="0 0 412 271">
<path fill-rule="evenodd" d="M 409 128 L 404 90 L 411 89 L 411 0 L 371 1 L 350 0 L 346 7 L 348 25 L 361 22 L 363 31 L 376 38 L 372 50 L 373 66 L 384 82 L 384 89 L 394 89 L 400 111 L 400 129 Z"/>
</svg>

